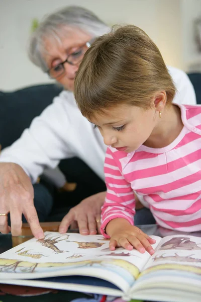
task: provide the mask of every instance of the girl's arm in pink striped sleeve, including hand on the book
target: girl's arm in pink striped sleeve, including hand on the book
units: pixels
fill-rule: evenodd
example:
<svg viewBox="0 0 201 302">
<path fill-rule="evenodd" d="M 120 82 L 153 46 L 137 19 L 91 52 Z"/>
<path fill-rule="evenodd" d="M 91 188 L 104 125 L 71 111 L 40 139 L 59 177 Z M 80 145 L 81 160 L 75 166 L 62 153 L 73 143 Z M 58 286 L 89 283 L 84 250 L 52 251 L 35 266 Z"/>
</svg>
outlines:
<svg viewBox="0 0 201 302">
<path fill-rule="evenodd" d="M 135 247 L 139 252 L 147 250 L 153 254 L 150 244 L 154 244 L 155 240 L 133 226 L 135 195 L 131 184 L 124 178 L 120 161 L 110 148 L 106 153 L 105 179 L 107 195 L 102 207 L 101 231 L 105 237 L 111 237 L 110 249 L 123 246 L 131 250 Z"/>
</svg>

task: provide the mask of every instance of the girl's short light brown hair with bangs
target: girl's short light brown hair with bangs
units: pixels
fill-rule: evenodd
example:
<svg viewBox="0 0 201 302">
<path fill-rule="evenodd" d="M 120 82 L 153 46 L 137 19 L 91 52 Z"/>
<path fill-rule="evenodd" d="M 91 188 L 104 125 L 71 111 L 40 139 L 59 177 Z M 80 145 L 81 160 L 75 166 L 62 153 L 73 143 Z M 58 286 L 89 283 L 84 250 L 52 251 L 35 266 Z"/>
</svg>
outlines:
<svg viewBox="0 0 201 302">
<path fill-rule="evenodd" d="M 95 39 L 75 78 L 74 95 L 81 113 L 90 118 L 127 103 L 150 108 L 157 91 L 166 91 L 167 103 L 175 86 L 155 43 L 140 28 L 113 28 Z"/>
</svg>

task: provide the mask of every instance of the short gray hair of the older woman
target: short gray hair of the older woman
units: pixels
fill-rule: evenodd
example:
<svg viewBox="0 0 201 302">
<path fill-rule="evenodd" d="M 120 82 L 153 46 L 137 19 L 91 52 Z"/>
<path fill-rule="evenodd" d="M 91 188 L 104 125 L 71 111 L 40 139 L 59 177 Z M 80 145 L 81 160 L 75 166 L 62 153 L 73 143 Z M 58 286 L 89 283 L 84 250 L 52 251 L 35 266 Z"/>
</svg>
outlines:
<svg viewBox="0 0 201 302">
<path fill-rule="evenodd" d="M 56 39 L 61 43 L 64 27 L 76 27 L 92 37 L 102 36 L 110 31 L 110 27 L 92 12 L 77 6 L 65 7 L 47 16 L 33 32 L 28 46 L 30 60 L 43 71 L 47 70 L 46 62 L 43 59 L 43 54 L 46 51 L 44 37 Z"/>
</svg>

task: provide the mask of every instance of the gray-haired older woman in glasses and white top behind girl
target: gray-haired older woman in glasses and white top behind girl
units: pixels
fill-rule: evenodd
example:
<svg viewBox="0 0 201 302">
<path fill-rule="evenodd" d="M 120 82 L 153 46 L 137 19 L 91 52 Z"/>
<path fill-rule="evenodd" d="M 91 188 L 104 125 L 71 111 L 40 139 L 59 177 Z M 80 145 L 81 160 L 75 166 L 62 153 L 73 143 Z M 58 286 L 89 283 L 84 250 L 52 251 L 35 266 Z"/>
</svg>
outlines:
<svg viewBox="0 0 201 302">
<path fill-rule="evenodd" d="M 0 232 L 14 236 L 21 233 L 22 214 L 30 223 L 33 235 L 43 238 L 34 206 L 33 185 L 45 167 L 54 169 L 61 159 L 78 157 L 104 180 L 106 146 L 97 129 L 79 112 L 73 95 L 79 63 L 94 37 L 109 27 L 93 13 L 80 7 L 67 7 L 48 16 L 33 33 L 29 56 L 64 90 L 53 104 L 35 118 L 29 129 L 9 147 L 0 160 Z M 169 67 L 178 93 L 174 102 L 195 103 L 187 75 Z M 63 218 L 59 231 L 77 221 L 81 234 L 96 234 L 100 207 L 105 192 L 86 198 Z M 48 202 L 48 201 L 47 201 Z M 11 229 L 8 226 L 8 213 Z"/>
</svg>

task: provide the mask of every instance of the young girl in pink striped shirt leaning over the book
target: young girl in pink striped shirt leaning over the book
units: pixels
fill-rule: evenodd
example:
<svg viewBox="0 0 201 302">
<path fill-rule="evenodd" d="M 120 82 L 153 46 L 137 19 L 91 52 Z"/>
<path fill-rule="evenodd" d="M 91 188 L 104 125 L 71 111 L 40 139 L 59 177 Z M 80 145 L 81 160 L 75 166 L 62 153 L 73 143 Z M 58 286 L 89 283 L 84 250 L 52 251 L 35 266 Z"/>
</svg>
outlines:
<svg viewBox="0 0 201 302">
<path fill-rule="evenodd" d="M 174 95 L 160 51 L 136 26 L 97 38 L 80 64 L 77 105 L 109 145 L 102 232 L 111 250 L 154 252 L 133 226 L 134 192 L 159 225 L 201 230 L 201 107 L 174 105 Z"/>
</svg>

